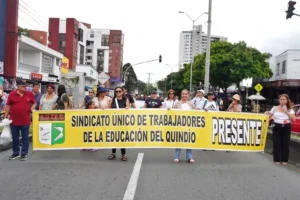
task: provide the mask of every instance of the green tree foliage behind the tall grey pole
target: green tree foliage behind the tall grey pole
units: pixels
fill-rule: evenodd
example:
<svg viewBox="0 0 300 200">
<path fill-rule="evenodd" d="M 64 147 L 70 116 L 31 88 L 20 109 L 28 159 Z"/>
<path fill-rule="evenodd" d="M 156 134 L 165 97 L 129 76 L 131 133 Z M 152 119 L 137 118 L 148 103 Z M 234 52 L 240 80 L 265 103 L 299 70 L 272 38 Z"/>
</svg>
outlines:
<svg viewBox="0 0 300 200">
<path fill-rule="evenodd" d="M 210 57 L 210 89 L 225 91 L 246 78 L 270 78 L 272 70 L 267 60 L 269 53 L 261 53 L 255 48 L 247 46 L 245 42 L 230 43 L 224 41 L 212 42 Z M 199 83 L 204 83 L 206 53 L 197 55 L 193 63 L 192 87 L 195 90 Z M 190 83 L 190 65 L 185 65 L 179 72 L 173 74 L 173 88 L 179 92 L 188 88 Z M 175 84 L 174 84 L 175 83 Z M 158 84 L 162 90 L 163 85 L 170 88 L 170 74 Z M 163 90 L 164 91 L 164 90 Z"/>
</svg>

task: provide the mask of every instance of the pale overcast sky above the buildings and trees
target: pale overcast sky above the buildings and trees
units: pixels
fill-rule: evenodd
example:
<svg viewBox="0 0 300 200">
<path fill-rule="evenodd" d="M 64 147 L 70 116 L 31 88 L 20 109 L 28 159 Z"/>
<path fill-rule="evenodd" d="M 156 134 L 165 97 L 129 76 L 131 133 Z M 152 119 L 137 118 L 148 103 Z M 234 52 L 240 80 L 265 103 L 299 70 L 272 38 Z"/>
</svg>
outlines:
<svg viewBox="0 0 300 200">
<path fill-rule="evenodd" d="M 24 3 L 25 2 L 25 3 Z M 288 0 L 213 0 L 212 34 L 227 36 L 230 42 L 246 41 L 261 51 L 277 55 L 286 49 L 300 48 L 300 17 L 285 19 Z M 40 17 L 38 24 L 20 11 L 23 27 L 44 29 L 49 17 L 74 17 L 92 24 L 93 28 L 121 29 L 125 35 L 124 64 L 158 58 L 134 67 L 138 79 L 151 82 L 164 78 L 171 67 L 178 69 L 179 35 L 192 29 L 192 18 L 208 11 L 208 0 L 20 0 Z M 295 13 L 300 14 L 300 3 Z M 24 8 L 22 9 L 24 10 Z M 37 14 L 36 14 L 37 15 Z M 43 17 L 43 19 L 42 19 Z M 207 30 L 207 15 L 196 24 Z M 43 27 L 43 26 L 44 27 Z"/>
</svg>

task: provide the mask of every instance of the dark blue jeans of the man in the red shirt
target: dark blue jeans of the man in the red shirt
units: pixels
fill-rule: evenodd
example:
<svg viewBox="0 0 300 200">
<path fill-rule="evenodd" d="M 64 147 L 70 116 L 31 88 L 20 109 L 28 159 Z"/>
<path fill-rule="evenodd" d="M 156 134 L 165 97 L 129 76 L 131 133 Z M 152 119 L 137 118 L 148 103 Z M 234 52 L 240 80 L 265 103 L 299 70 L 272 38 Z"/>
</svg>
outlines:
<svg viewBox="0 0 300 200">
<path fill-rule="evenodd" d="M 10 125 L 11 134 L 13 138 L 13 153 L 20 154 L 20 131 L 22 134 L 22 155 L 27 155 L 29 149 L 29 127 L 30 126 L 14 126 Z"/>
</svg>

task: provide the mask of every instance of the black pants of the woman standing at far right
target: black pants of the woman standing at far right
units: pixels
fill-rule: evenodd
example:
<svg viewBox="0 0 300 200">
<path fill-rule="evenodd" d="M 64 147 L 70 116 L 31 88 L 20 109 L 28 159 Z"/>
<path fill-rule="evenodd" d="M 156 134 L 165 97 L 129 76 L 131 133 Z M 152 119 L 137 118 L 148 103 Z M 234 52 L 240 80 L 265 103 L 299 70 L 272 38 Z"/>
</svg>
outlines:
<svg viewBox="0 0 300 200">
<path fill-rule="evenodd" d="M 290 153 L 291 124 L 275 124 L 273 127 L 273 160 L 288 162 Z"/>
</svg>

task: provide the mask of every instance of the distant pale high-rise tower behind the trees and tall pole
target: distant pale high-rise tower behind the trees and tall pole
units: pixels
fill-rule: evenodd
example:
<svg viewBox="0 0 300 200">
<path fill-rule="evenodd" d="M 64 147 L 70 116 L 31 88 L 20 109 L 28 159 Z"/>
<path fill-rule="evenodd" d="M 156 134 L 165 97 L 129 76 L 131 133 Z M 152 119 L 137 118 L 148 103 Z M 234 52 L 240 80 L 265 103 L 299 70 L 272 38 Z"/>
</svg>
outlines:
<svg viewBox="0 0 300 200">
<path fill-rule="evenodd" d="M 211 35 L 211 41 L 227 41 L 227 37 Z M 202 26 L 195 26 L 194 31 L 180 33 L 179 63 L 190 63 L 193 55 L 206 51 L 207 35 L 202 31 Z"/>
</svg>

